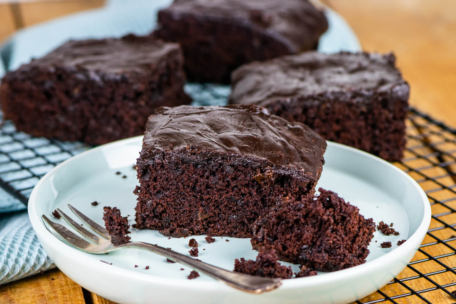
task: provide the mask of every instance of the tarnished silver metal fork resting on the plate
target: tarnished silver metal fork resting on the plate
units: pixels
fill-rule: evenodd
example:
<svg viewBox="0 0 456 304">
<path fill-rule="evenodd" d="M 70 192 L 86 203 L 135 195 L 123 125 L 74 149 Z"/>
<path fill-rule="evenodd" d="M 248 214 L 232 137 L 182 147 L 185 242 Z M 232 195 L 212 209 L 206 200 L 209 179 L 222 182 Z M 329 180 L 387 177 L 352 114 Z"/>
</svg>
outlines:
<svg viewBox="0 0 456 304">
<path fill-rule="evenodd" d="M 206 273 L 208 276 L 216 278 L 228 284 L 229 286 L 254 294 L 259 294 L 264 291 L 275 289 L 282 284 L 280 278 L 261 278 L 244 273 L 236 273 L 201 262 L 197 259 L 190 258 L 179 252 L 174 252 L 161 246 L 152 245 L 145 242 L 130 242 L 124 240 L 121 237 L 110 236 L 108 230 L 106 230 L 104 227 L 98 225 L 96 222 L 85 216 L 70 204 L 67 205 L 81 221 L 83 221 L 88 227 L 90 227 L 99 235 L 97 236 L 92 232 L 89 232 L 87 229 L 81 227 L 77 222 L 73 221 L 71 217 L 67 216 L 62 210 L 57 208 L 57 212 L 71 227 L 73 227 L 77 232 L 79 232 L 91 242 L 78 237 L 63 225 L 52 222 L 44 214 L 42 217 L 44 221 L 47 222 L 49 226 L 51 226 L 57 232 L 57 234 L 67 240 L 67 242 L 69 242 L 74 247 L 85 252 L 101 254 L 127 247 L 146 249 L 169 258 L 172 261 L 179 262 L 195 270 L 201 271 L 202 273 Z"/>
</svg>

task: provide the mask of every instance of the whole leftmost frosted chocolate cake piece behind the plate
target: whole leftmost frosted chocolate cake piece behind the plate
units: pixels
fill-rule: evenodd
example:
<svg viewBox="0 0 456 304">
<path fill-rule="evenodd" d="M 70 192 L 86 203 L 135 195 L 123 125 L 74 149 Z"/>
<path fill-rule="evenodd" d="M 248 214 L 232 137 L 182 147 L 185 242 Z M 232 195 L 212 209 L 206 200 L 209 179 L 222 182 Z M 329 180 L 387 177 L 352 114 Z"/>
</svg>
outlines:
<svg viewBox="0 0 456 304">
<path fill-rule="evenodd" d="M 68 41 L 8 72 L 5 119 L 35 136 L 105 144 L 144 132 L 160 106 L 187 104 L 178 44 L 152 37 Z"/>
</svg>

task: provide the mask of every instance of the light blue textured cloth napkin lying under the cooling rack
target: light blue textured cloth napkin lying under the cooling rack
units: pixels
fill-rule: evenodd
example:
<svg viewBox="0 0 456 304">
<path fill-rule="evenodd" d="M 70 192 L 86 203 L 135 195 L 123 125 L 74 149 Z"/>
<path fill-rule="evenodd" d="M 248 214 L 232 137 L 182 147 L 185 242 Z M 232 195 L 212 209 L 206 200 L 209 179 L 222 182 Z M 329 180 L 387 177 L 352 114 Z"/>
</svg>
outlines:
<svg viewBox="0 0 456 304">
<path fill-rule="evenodd" d="M 128 33 L 148 34 L 155 26 L 156 12 L 171 0 L 110 0 L 102 9 L 58 18 L 18 31 L 0 53 L 8 70 L 31 58 L 41 57 L 68 39 L 119 37 Z M 331 10 L 326 11 L 329 30 L 321 37 L 320 52 L 360 50 L 359 42 L 347 23 Z M 0 63 L 1 65 L 1 63 Z M 2 75 L 0 66 L 0 76 Z M 187 84 L 193 104 L 226 103 L 229 87 Z M 0 153 L 1 154 L 1 153 Z M 28 220 L 26 206 L 0 188 L 0 284 L 55 267 L 42 249 Z"/>
</svg>

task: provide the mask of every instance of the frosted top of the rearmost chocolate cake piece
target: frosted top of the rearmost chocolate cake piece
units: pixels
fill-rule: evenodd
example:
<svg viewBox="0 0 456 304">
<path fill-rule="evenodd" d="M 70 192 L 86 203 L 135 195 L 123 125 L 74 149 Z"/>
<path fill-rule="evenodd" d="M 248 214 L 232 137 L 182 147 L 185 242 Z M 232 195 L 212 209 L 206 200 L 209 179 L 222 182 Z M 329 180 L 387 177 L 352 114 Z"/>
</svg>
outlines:
<svg viewBox="0 0 456 304">
<path fill-rule="evenodd" d="M 290 52 L 310 49 L 328 28 L 323 12 L 307 0 L 175 0 L 164 10 L 257 26 L 285 38 Z"/>
</svg>

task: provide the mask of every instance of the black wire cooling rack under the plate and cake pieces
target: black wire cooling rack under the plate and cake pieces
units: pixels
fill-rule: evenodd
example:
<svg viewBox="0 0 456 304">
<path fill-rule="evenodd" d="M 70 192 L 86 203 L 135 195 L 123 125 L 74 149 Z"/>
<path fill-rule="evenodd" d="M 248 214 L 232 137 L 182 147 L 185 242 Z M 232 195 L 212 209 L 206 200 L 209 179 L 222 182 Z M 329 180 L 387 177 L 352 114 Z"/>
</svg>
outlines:
<svg viewBox="0 0 456 304">
<path fill-rule="evenodd" d="M 189 88 L 192 91 L 194 88 Z M 223 103 L 223 87 L 198 87 Z M 190 92 L 192 93 L 192 92 Z M 214 103 L 212 103 L 214 104 Z M 1 115 L 1 114 L 0 114 Z M 432 208 L 427 235 L 407 267 L 386 286 L 356 301 L 373 303 L 456 303 L 456 130 L 411 109 L 404 159 L 394 163 L 425 190 Z M 63 160 L 90 147 L 36 138 L 5 121 L 0 128 L 0 186 L 26 204 L 36 182 Z"/>
</svg>

